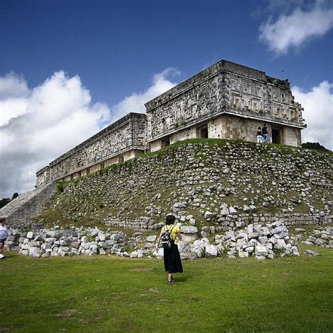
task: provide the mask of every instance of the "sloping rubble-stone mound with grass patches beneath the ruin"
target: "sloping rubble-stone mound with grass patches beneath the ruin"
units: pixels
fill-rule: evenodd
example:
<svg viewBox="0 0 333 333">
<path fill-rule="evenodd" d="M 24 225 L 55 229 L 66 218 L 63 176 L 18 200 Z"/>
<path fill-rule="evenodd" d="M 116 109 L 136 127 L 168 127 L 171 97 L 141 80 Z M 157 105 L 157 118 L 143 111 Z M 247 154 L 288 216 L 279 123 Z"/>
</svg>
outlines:
<svg viewBox="0 0 333 333">
<path fill-rule="evenodd" d="M 87 195 L 89 193 L 89 195 Z M 49 204 L 49 218 L 152 230 L 166 214 L 217 230 L 252 223 L 332 222 L 332 155 L 237 141 L 169 146 L 77 183 Z"/>
</svg>

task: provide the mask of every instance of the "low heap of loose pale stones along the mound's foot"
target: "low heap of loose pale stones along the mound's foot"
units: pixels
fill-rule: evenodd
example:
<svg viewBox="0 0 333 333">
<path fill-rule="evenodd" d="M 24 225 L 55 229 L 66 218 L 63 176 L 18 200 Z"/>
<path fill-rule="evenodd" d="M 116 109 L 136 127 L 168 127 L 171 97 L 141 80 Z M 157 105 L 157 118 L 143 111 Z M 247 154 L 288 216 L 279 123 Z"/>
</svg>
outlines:
<svg viewBox="0 0 333 333">
<path fill-rule="evenodd" d="M 257 259 L 264 260 L 275 256 L 299 256 L 296 240 L 289 237 L 287 226 L 280 221 L 265 226 L 254 223 L 247 228 L 230 230 L 221 235 L 215 235 L 214 227 L 203 227 L 200 239 L 197 239 L 198 230 L 195 226 L 181 226 L 181 231 L 183 240 L 178 242 L 178 247 L 182 259 L 256 256 Z M 122 231 L 104 232 L 98 228 L 74 226 L 67 230 L 55 227 L 24 233 L 11 229 L 10 233 L 8 249 L 18 249 L 20 254 L 34 258 L 79 254 L 163 257 L 163 249 L 155 251 L 156 235 L 133 233 L 129 237 Z"/>
</svg>

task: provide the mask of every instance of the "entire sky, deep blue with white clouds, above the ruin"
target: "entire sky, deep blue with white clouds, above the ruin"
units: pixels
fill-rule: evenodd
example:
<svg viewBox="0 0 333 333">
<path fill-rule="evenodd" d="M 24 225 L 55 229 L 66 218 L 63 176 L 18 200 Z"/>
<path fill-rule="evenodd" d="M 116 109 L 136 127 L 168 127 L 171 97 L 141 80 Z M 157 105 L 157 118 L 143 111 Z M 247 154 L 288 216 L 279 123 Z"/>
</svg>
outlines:
<svg viewBox="0 0 333 333">
<path fill-rule="evenodd" d="M 29 172 L 17 183 L 0 179 L 0 197 L 33 187 L 34 172 L 51 159 L 221 59 L 288 78 L 309 105 L 305 138 L 332 149 L 332 27 L 332 1 L 1 0 L 2 168 L 19 174 L 25 164 Z M 41 121 L 48 116 L 53 127 Z M 22 132 L 30 154 L 11 143 Z M 35 144 L 59 136 L 58 148 Z"/>
</svg>

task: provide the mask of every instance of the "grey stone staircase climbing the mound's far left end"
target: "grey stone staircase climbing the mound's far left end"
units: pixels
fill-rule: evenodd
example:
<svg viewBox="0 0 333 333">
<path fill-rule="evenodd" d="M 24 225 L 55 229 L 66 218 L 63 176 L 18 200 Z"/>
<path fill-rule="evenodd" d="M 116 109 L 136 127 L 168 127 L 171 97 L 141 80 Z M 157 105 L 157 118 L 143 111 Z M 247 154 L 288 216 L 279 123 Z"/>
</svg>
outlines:
<svg viewBox="0 0 333 333">
<path fill-rule="evenodd" d="M 46 201 L 55 193 L 56 184 L 42 185 L 37 190 L 25 192 L 0 209 L 0 216 L 6 217 L 9 226 L 27 221 L 41 212 Z"/>
</svg>

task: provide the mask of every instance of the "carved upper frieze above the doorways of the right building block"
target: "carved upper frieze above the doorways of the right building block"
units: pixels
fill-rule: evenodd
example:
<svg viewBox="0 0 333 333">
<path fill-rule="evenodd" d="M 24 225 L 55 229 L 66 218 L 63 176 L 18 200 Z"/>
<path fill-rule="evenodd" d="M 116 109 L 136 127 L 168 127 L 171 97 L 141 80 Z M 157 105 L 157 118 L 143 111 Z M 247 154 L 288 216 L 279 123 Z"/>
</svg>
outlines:
<svg viewBox="0 0 333 333">
<path fill-rule="evenodd" d="M 289 81 L 222 60 L 145 104 L 148 141 L 222 112 L 303 126 Z"/>
</svg>

